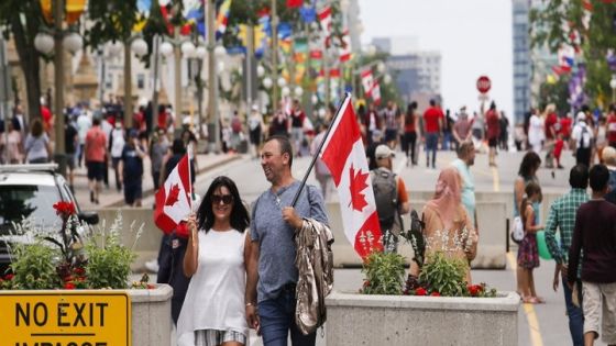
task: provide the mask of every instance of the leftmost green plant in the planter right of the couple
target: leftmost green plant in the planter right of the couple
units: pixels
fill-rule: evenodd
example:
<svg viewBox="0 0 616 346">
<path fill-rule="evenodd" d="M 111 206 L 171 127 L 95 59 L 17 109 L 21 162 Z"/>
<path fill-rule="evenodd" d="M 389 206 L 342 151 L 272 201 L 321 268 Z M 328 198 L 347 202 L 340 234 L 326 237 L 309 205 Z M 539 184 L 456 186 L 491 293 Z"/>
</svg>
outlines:
<svg viewBox="0 0 616 346">
<path fill-rule="evenodd" d="M 396 253 L 373 252 L 364 260 L 361 289 L 365 294 L 400 294 L 404 282 L 404 257 Z"/>
</svg>

